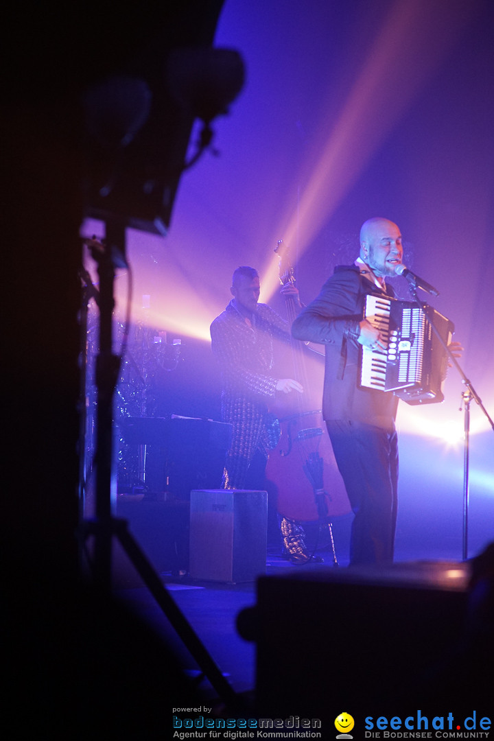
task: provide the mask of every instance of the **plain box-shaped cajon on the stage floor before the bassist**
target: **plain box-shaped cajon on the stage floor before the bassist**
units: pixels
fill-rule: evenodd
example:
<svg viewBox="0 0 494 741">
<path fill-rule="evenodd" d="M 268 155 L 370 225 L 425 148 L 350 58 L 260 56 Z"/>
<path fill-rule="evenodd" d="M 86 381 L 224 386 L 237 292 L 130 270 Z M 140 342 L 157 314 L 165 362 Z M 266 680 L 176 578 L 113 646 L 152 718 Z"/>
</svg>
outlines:
<svg viewBox="0 0 494 741">
<path fill-rule="evenodd" d="M 266 571 L 267 493 L 241 489 L 190 492 L 190 576 L 252 582 Z"/>
</svg>

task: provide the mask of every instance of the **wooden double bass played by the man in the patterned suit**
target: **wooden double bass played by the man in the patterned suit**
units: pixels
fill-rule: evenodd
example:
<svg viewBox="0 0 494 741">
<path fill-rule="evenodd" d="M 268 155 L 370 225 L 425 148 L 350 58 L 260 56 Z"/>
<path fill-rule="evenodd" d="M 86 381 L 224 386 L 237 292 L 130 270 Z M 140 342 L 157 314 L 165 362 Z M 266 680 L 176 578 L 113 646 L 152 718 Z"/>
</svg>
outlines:
<svg viewBox="0 0 494 741">
<path fill-rule="evenodd" d="M 294 271 L 281 240 L 275 252 L 281 285 L 295 285 Z M 286 308 L 291 326 L 297 314 L 291 296 L 286 299 Z M 280 402 L 276 409 L 281 436 L 270 454 L 267 479 L 276 485 L 277 510 L 282 518 L 298 525 L 318 522 L 326 526 L 332 517 L 348 514 L 351 507 L 319 408 L 324 348 L 293 339 L 292 359 L 293 378 L 304 387 L 304 393 L 290 394 L 283 400 L 284 405 Z"/>
</svg>

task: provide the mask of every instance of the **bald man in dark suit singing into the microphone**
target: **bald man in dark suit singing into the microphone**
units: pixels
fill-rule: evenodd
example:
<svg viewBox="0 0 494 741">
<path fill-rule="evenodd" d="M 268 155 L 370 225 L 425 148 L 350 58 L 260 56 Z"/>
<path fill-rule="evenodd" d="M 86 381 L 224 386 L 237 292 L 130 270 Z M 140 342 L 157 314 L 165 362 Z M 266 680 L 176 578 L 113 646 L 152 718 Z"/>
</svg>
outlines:
<svg viewBox="0 0 494 741">
<path fill-rule="evenodd" d="M 393 393 L 361 388 L 359 345 L 384 348 L 384 338 L 362 319 L 368 294 L 395 296 L 386 279 L 403 256 L 397 225 L 381 217 L 361 227 L 360 255 L 338 266 L 317 298 L 293 322 L 296 339 L 326 347 L 323 416 L 354 519 L 350 565 L 393 561 L 398 445 Z"/>
</svg>

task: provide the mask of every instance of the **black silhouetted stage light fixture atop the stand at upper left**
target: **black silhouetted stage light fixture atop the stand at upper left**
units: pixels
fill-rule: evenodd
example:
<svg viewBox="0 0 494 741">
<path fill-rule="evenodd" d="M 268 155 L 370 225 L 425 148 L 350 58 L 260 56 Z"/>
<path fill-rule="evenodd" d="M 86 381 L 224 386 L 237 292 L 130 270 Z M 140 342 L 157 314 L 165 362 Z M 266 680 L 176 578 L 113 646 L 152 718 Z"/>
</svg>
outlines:
<svg viewBox="0 0 494 741">
<path fill-rule="evenodd" d="M 196 42 L 197 36 L 196 27 L 188 39 L 180 28 L 179 41 L 171 33 L 144 61 L 84 93 L 87 217 L 167 233 L 181 175 L 210 147 L 213 119 L 228 112 L 244 84 L 240 54 L 211 47 L 204 33 Z M 197 119 L 201 135 L 187 162 Z"/>
</svg>

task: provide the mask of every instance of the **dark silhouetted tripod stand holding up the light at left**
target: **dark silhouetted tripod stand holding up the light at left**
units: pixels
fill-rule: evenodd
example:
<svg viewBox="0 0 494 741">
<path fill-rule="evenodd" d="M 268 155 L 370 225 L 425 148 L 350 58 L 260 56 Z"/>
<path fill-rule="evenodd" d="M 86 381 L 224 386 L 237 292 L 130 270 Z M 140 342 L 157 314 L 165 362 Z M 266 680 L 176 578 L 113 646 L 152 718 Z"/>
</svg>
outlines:
<svg viewBox="0 0 494 741">
<path fill-rule="evenodd" d="M 113 395 L 119 374 L 120 359 L 113 354 L 113 284 L 116 268 L 127 268 L 125 259 L 125 227 L 118 219 L 107 222 L 104 244 L 90 240 L 93 259 L 99 273 L 99 355 L 96 358 L 96 516 L 84 520 L 79 536 L 84 544 L 93 536 L 93 581 L 102 594 L 110 594 L 112 586 L 112 544 L 116 537 L 124 553 L 149 588 L 164 615 L 207 677 L 218 697 L 230 711 L 241 711 L 243 703 L 224 678 L 213 658 L 187 622 L 167 588 L 161 582 L 149 559 L 127 529 L 127 521 L 113 516 L 111 478 L 113 452 Z"/>
</svg>

